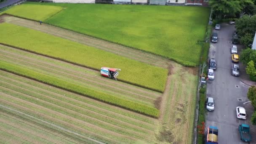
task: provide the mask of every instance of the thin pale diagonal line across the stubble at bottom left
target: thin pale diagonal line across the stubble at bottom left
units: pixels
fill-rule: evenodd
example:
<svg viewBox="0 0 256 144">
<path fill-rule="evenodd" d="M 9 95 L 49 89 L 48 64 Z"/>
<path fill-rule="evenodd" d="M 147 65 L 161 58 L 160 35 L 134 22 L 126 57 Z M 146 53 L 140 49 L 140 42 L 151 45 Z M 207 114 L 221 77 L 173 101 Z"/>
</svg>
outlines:
<svg viewBox="0 0 256 144">
<path fill-rule="evenodd" d="M 34 116 L 32 116 L 32 115 L 28 115 L 28 114 L 26 114 L 26 113 L 20 112 L 20 111 L 18 111 L 18 110 L 16 110 L 16 109 L 12 109 L 12 108 L 10 108 L 10 107 L 6 107 L 6 106 L 4 106 L 4 105 L 2 105 L 2 104 L 0 104 L 0 107 L 1 107 L 2 109 L 8 109 L 8 110 L 11 110 L 11 111 L 13 111 L 13 112 L 19 113 L 19 114 L 21 114 L 21 115 L 25 115 L 25 116 L 30 117 L 30 118 L 32 118 L 32 119 L 35 119 L 35 120 L 38 120 L 38 121 L 40 121 L 40 122 L 46 123 L 46 124 L 51 125 L 51 126 L 53 126 L 53 127 L 55 127 L 55 128 L 59 128 L 59 129 L 61 129 L 62 131 L 66 131 L 66 132 L 68 132 L 68 133 L 72 133 L 72 134 L 75 134 L 75 135 L 77 135 L 77 136 L 83 137 L 84 139 L 88 139 L 88 140 L 90 140 L 90 141 L 94 141 L 94 142 L 96 142 L 96 143 L 98 143 L 98 144 L 104 144 L 104 143 L 102 143 L 102 142 L 100 142 L 100 141 L 97 141 L 97 140 L 95 140 L 95 139 L 91 139 L 91 138 L 89 138 L 89 137 L 86 138 L 86 137 L 84 137 L 83 135 L 80 135 L 79 133 L 76 133 L 76 132 L 74 132 L 74 131 L 70 131 L 70 130 L 68 130 L 68 129 L 66 129 L 66 128 L 63 128 L 63 127 L 59 126 L 59 125 L 55 125 L 55 124 L 53 124 L 53 123 L 49 123 L 49 122 L 47 122 L 47 121 L 45 121 L 45 120 L 41 120 L 41 119 L 39 119 L 39 118 L 37 118 L 37 117 L 34 117 Z"/>
</svg>

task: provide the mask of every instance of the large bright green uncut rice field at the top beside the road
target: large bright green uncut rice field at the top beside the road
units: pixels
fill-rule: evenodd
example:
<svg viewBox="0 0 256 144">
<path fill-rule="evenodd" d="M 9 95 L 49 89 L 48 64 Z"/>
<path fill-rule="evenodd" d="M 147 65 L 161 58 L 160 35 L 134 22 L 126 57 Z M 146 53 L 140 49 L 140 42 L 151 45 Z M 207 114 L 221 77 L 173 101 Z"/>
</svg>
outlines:
<svg viewBox="0 0 256 144">
<path fill-rule="evenodd" d="M 209 9 L 203 7 L 71 3 L 24 5 L 66 7 L 46 23 L 155 53 L 185 66 L 199 64 L 201 45 L 198 41 L 204 40 L 209 17 Z M 34 15 L 27 14 L 29 18 Z M 20 16 L 19 13 L 13 15 Z"/>
</svg>

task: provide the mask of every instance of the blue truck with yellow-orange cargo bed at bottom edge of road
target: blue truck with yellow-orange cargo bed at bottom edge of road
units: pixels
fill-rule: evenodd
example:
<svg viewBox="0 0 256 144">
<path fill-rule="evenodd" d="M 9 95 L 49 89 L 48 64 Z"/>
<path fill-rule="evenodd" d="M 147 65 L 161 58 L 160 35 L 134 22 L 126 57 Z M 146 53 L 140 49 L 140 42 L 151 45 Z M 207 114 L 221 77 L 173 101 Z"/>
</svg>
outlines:
<svg viewBox="0 0 256 144">
<path fill-rule="evenodd" d="M 205 144 L 218 144 L 218 134 L 219 130 L 215 126 L 209 126 L 207 128 L 207 136 L 206 136 L 206 143 Z"/>
</svg>

